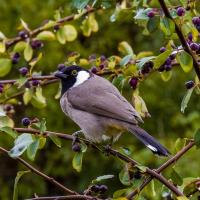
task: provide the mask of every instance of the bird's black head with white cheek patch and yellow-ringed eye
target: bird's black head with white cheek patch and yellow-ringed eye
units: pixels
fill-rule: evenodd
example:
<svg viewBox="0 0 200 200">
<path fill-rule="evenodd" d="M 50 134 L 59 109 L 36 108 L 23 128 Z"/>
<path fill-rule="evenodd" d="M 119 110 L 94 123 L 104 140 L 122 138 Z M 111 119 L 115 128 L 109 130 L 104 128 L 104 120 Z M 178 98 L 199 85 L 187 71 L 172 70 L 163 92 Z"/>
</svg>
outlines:
<svg viewBox="0 0 200 200">
<path fill-rule="evenodd" d="M 89 79 L 91 73 L 79 66 L 72 65 L 65 67 L 61 71 L 55 74 L 55 77 L 59 78 L 62 83 L 62 94 L 64 94 L 69 88 L 80 85 Z"/>
</svg>

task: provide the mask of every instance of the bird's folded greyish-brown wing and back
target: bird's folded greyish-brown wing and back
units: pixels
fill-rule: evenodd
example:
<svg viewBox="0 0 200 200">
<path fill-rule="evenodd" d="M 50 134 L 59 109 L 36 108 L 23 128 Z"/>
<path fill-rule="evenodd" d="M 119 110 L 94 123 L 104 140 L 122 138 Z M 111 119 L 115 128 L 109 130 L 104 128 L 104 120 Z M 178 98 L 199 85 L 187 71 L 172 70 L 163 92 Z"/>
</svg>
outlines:
<svg viewBox="0 0 200 200">
<path fill-rule="evenodd" d="M 93 76 L 67 92 L 76 109 L 137 124 L 141 117 L 115 86 L 104 78 Z"/>
</svg>

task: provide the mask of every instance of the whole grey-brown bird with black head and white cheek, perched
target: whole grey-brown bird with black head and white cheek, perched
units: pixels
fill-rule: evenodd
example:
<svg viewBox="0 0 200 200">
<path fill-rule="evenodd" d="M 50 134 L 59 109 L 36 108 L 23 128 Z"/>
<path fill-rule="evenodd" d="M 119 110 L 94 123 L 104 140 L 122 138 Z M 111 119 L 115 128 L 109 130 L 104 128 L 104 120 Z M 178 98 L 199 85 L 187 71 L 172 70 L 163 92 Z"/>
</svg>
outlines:
<svg viewBox="0 0 200 200">
<path fill-rule="evenodd" d="M 86 139 L 94 143 L 116 142 L 128 131 L 153 153 L 170 155 L 139 127 L 142 118 L 110 81 L 77 65 L 64 67 L 54 76 L 61 80 L 62 111 L 81 128 Z"/>
</svg>

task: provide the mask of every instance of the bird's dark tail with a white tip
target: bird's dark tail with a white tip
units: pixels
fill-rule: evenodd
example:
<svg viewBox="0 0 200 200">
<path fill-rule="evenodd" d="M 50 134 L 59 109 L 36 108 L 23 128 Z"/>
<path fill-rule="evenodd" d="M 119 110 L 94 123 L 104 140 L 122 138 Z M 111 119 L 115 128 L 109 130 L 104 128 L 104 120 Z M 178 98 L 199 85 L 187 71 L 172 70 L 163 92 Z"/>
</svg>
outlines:
<svg viewBox="0 0 200 200">
<path fill-rule="evenodd" d="M 169 151 L 162 146 L 156 139 L 149 135 L 145 130 L 138 126 L 130 126 L 128 130 L 133 133 L 146 147 L 148 147 L 153 153 L 160 156 L 169 156 Z"/>
</svg>

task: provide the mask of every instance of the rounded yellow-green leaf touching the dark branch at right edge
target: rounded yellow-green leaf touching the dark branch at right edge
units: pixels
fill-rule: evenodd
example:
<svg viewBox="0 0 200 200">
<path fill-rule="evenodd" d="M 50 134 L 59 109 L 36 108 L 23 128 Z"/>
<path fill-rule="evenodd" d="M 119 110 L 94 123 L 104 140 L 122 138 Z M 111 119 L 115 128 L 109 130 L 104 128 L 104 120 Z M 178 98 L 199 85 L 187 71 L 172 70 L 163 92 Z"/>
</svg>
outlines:
<svg viewBox="0 0 200 200">
<path fill-rule="evenodd" d="M 181 51 L 180 53 L 176 55 L 176 58 L 178 62 L 180 63 L 184 72 L 189 72 L 192 69 L 193 59 L 190 56 L 190 54 L 188 54 L 185 51 Z"/>
</svg>

